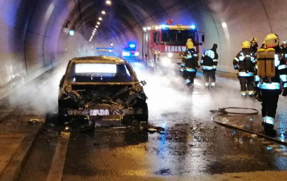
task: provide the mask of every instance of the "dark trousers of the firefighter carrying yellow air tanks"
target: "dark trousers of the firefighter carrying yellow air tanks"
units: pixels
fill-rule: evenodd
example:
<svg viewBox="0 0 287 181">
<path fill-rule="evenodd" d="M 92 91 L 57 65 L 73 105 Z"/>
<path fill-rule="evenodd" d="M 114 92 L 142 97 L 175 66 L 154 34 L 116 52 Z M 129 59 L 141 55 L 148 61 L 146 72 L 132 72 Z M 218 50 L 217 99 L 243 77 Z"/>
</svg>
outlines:
<svg viewBox="0 0 287 181">
<path fill-rule="evenodd" d="M 277 103 L 281 90 L 260 89 L 262 94 L 262 118 L 263 122 L 274 125 Z M 266 119 L 267 118 L 267 119 Z M 264 120 L 265 119 L 265 120 Z M 269 121 L 269 122 L 268 122 Z"/>
</svg>

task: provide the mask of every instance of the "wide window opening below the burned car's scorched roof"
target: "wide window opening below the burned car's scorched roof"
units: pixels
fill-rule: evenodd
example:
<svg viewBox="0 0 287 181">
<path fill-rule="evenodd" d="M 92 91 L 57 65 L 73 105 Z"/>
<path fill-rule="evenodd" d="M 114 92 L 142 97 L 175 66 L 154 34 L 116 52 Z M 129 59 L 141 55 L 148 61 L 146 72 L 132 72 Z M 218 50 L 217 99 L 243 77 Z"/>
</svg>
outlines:
<svg viewBox="0 0 287 181">
<path fill-rule="evenodd" d="M 77 63 L 72 65 L 71 82 L 133 82 L 135 77 L 125 64 Z"/>
</svg>

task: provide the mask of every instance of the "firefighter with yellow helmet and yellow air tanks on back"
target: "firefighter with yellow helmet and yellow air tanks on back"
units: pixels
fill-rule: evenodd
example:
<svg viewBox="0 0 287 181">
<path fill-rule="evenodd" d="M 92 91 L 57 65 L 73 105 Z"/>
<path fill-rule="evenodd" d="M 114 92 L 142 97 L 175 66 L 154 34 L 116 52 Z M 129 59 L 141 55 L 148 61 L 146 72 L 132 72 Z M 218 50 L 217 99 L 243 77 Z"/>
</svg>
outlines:
<svg viewBox="0 0 287 181">
<path fill-rule="evenodd" d="M 274 119 L 279 95 L 284 88 L 283 96 L 287 96 L 287 65 L 283 57 L 279 37 L 276 34 L 268 34 L 265 38 L 265 48 L 259 49 L 258 76 L 261 80 L 258 84 L 262 95 L 262 125 L 268 136 L 274 137 Z M 281 87 L 282 85 L 282 87 Z"/>
</svg>

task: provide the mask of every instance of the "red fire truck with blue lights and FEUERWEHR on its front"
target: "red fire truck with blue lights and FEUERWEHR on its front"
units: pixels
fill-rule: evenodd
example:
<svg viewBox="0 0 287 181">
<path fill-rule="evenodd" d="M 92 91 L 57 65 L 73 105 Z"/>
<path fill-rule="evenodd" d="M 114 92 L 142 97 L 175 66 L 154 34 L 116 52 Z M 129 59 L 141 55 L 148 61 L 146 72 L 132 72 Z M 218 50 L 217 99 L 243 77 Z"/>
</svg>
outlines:
<svg viewBox="0 0 287 181">
<path fill-rule="evenodd" d="M 199 52 L 199 45 L 204 42 L 204 33 L 198 32 L 195 24 L 186 26 L 167 23 L 143 27 L 143 30 L 142 59 L 146 66 L 154 70 L 181 63 L 188 38 L 193 40 L 196 52 Z"/>
</svg>

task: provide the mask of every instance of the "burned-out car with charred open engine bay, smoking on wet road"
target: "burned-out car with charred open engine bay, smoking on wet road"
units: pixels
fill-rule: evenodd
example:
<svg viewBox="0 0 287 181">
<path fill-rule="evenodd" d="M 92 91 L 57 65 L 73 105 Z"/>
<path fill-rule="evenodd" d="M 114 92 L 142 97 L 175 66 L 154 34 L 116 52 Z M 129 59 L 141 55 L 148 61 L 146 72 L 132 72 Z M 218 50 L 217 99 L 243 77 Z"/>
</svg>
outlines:
<svg viewBox="0 0 287 181">
<path fill-rule="evenodd" d="M 74 58 L 59 85 L 59 121 L 89 126 L 147 123 L 145 84 L 123 59 Z"/>
</svg>

